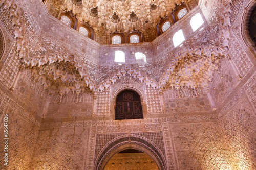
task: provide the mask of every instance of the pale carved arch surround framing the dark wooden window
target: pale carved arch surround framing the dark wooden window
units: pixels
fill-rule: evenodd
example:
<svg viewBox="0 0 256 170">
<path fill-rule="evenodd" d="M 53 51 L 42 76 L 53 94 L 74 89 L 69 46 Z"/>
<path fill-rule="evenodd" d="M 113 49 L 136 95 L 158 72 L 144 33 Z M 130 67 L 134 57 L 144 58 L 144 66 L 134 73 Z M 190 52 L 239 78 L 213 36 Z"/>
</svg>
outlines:
<svg viewBox="0 0 256 170">
<path fill-rule="evenodd" d="M 123 88 L 120 88 L 119 90 L 115 91 L 112 95 L 112 99 L 111 99 L 111 117 L 113 118 L 113 120 L 115 120 L 115 107 L 116 107 L 116 98 L 118 96 L 119 93 L 121 93 L 122 91 L 125 90 L 132 90 L 135 91 L 139 97 L 140 97 L 140 101 L 141 101 L 141 106 L 142 106 L 142 110 L 143 110 L 143 118 L 147 118 L 147 108 L 146 108 L 146 100 L 144 97 L 144 93 L 142 94 L 142 92 L 132 86 L 126 86 Z"/>
</svg>

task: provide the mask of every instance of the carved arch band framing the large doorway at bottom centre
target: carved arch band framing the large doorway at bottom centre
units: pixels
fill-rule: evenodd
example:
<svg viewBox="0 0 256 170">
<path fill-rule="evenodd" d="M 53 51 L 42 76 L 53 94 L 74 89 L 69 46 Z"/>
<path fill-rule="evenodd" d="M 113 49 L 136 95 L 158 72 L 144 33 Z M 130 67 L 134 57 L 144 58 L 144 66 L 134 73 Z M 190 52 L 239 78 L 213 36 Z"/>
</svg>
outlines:
<svg viewBox="0 0 256 170">
<path fill-rule="evenodd" d="M 155 161 L 160 170 L 167 169 L 165 157 L 157 145 L 151 140 L 135 134 L 119 136 L 106 144 L 95 160 L 94 169 L 103 170 L 112 156 L 126 149 L 144 152 Z"/>
</svg>

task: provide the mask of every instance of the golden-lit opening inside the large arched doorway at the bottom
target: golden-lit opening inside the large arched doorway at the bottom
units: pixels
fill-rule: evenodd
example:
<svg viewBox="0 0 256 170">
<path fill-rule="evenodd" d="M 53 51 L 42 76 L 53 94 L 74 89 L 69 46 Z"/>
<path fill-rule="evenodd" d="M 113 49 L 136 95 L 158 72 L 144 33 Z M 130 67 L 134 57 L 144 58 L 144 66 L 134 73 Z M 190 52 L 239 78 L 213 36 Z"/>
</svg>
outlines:
<svg viewBox="0 0 256 170">
<path fill-rule="evenodd" d="M 146 153 L 135 149 L 126 149 L 116 153 L 104 170 L 158 170 L 155 161 Z"/>
</svg>

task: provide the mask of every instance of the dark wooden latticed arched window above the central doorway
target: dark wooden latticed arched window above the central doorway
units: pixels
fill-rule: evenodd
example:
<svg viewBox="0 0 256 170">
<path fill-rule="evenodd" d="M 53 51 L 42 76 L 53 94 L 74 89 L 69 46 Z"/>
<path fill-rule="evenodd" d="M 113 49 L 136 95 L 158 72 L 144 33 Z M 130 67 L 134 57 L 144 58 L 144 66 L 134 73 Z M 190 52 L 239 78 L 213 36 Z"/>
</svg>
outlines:
<svg viewBox="0 0 256 170">
<path fill-rule="evenodd" d="M 122 91 L 117 95 L 115 120 L 143 118 L 140 96 L 132 90 Z"/>
</svg>

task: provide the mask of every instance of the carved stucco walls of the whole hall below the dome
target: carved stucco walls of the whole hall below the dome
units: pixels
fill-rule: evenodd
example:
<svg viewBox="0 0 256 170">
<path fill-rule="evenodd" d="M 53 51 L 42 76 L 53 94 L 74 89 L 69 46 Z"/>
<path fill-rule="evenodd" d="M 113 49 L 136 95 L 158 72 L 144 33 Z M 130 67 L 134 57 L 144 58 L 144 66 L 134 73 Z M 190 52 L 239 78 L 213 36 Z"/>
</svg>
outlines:
<svg viewBox="0 0 256 170">
<path fill-rule="evenodd" d="M 151 43 L 115 47 L 81 37 L 41 1 L 1 3 L 1 30 L 15 41 L 4 42 L 10 51 L 0 72 L 0 116 L 10 117 L 9 168 L 95 169 L 97 135 L 115 140 L 125 133 L 157 145 L 167 169 L 255 169 L 256 61 L 243 31 L 244 9 L 253 1 L 187 3 L 195 8 Z M 174 48 L 169 38 L 197 12 L 207 21 L 204 29 L 186 27 L 182 48 Z M 114 63 L 117 49 L 131 62 Z M 147 63 L 134 61 L 137 51 Z M 191 77 L 194 88 L 182 77 L 196 67 L 185 62 L 191 58 L 207 77 Z M 178 86 L 172 84 L 177 74 Z M 127 86 L 142 96 L 144 119 L 114 120 L 115 93 Z"/>
</svg>

